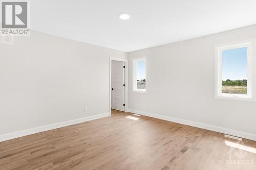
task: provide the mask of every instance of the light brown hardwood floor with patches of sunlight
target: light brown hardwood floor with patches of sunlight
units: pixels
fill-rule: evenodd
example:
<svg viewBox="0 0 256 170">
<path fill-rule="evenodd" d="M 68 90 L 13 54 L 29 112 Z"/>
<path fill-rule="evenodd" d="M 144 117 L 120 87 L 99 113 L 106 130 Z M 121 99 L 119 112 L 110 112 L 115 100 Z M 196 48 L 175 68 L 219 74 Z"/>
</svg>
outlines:
<svg viewBox="0 0 256 170">
<path fill-rule="evenodd" d="M 110 117 L 1 142 L 0 169 L 256 169 L 255 148 L 255 141 L 113 110 Z"/>
</svg>

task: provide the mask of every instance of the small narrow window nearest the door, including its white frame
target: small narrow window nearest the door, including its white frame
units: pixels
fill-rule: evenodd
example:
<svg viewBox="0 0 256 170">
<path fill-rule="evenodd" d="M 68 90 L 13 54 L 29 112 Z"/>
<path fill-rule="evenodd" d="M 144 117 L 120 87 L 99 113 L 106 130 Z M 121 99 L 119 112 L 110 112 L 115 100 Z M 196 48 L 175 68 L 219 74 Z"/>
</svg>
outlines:
<svg viewBox="0 0 256 170">
<path fill-rule="evenodd" d="M 146 91 L 146 59 L 134 60 L 134 91 Z"/>
</svg>

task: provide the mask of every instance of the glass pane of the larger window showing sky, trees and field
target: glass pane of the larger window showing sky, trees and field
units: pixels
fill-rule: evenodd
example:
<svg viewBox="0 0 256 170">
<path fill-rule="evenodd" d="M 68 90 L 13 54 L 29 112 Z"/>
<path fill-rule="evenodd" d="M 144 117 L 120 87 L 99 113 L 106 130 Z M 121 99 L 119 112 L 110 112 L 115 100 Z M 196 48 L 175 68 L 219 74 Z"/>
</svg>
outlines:
<svg viewBox="0 0 256 170">
<path fill-rule="evenodd" d="M 222 93 L 247 94 L 247 47 L 222 51 Z"/>
</svg>

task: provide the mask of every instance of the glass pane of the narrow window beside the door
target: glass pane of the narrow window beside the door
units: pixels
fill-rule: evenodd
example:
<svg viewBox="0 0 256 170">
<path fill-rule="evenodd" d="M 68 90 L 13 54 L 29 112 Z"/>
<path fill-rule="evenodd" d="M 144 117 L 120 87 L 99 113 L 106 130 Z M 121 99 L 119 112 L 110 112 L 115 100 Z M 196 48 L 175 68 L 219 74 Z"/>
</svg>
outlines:
<svg viewBox="0 0 256 170">
<path fill-rule="evenodd" d="M 146 64 L 144 60 L 136 62 L 137 89 L 146 89 Z"/>
</svg>

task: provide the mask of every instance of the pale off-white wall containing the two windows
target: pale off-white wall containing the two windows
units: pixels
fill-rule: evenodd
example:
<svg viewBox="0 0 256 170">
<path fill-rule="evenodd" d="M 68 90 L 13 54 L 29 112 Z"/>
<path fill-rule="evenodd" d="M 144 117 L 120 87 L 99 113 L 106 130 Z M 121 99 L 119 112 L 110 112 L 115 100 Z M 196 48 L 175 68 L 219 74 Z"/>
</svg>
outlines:
<svg viewBox="0 0 256 170">
<path fill-rule="evenodd" d="M 147 57 L 147 93 L 132 92 L 130 81 L 129 108 L 256 135 L 255 102 L 214 98 L 215 45 L 255 37 L 256 25 L 129 53 L 129 80 L 132 59 Z"/>
</svg>

